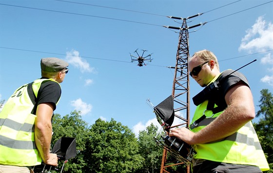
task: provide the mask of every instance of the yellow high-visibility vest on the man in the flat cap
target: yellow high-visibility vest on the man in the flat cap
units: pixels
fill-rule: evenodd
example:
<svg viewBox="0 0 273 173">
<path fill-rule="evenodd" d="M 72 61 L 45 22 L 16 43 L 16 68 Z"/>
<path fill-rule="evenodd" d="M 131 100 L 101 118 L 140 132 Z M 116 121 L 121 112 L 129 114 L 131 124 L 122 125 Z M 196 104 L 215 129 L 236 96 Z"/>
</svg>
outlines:
<svg viewBox="0 0 273 173">
<path fill-rule="evenodd" d="M 32 89 L 31 84 L 21 86 L 0 112 L 0 164 L 15 166 L 41 164 L 41 156 L 35 144 L 36 115 L 33 112 L 36 112 L 37 108 L 34 99 L 37 98 L 41 83 L 45 80 L 56 82 L 53 79 L 37 79 L 31 83 Z"/>
</svg>

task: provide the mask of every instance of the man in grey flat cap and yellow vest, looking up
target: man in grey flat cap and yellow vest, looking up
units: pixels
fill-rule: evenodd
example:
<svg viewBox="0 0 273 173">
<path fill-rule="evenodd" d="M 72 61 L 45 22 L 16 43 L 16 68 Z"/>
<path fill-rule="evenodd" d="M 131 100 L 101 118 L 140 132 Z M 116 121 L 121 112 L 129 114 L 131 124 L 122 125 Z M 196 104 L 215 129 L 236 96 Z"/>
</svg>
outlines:
<svg viewBox="0 0 273 173">
<path fill-rule="evenodd" d="M 19 87 L 0 112 L 0 173 L 30 173 L 41 161 L 58 165 L 50 153 L 51 120 L 68 63 L 42 58 L 40 66 L 41 78 Z"/>
</svg>

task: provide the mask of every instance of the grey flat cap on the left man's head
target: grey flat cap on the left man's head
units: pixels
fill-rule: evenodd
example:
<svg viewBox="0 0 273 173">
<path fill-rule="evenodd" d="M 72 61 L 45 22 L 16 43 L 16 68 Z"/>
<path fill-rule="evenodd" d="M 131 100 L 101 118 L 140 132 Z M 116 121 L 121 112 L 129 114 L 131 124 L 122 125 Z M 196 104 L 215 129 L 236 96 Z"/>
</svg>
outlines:
<svg viewBox="0 0 273 173">
<path fill-rule="evenodd" d="M 58 72 L 68 67 L 68 63 L 59 58 L 42 58 L 41 70 L 47 72 Z"/>
</svg>

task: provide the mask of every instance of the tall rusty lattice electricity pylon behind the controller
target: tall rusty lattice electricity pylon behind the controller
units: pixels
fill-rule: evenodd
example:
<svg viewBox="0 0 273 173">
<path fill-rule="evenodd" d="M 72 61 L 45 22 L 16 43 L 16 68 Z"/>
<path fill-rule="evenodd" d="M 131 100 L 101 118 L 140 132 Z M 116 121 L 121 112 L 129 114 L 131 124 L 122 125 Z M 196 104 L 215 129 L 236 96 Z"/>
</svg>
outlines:
<svg viewBox="0 0 273 173">
<path fill-rule="evenodd" d="M 199 16 L 197 14 L 192 17 Z M 178 47 L 176 53 L 176 67 L 170 67 L 175 69 L 175 77 L 173 82 L 173 90 L 172 96 L 174 98 L 174 109 L 175 109 L 175 117 L 180 119 L 182 123 L 180 124 L 173 124 L 171 128 L 184 126 L 189 127 L 190 125 L 190 81 L 189 81 L 189 69 L 188 69 L 188 60 L 189 60 L 189 29 L 204 25 L 202 23 L 197 24 L 195 26 L 188 27 L 186 20 L 192 17 L 181 18 L 181 17 L 170 17 L 174 19 L 181 19 L 183 20 L 182 26 L 179 27 L 172 27 L 172 26 L 164 26 L 170 29 L 178 29 L 179 32 L 179 40 L 178 40 Z M 181 115 L 182 110 L 186 110 L 186 118 L 183 118 Z M 160 173 L 170 173 L 166 170 L 166 168 L 170 168 L 173 166 L 184 164 L 183 162 L 177 160 L 176 164 L 173 164 L 173 161 L 167 160 L 167 150 L 163 150 L 162 161 L 161 161 L 161 169 Z M 187 173 L 190 173 L 190 167 L 187 166 Z"/>
</svg>

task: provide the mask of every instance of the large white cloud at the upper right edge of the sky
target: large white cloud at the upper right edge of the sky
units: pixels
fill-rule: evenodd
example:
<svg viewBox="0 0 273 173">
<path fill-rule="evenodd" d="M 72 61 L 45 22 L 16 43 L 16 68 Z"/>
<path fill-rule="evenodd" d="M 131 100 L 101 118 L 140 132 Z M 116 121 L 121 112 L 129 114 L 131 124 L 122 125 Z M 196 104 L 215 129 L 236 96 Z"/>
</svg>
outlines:
<svg viewBox="0 0 273 173">
<path fill-rule="evenodd" d="M 239 51 L 262 52 L 273 49 L 273 24 L 267 23 L 262 16 L 258 17 L 241 41 Z"/>
</svg>

